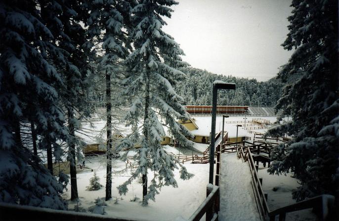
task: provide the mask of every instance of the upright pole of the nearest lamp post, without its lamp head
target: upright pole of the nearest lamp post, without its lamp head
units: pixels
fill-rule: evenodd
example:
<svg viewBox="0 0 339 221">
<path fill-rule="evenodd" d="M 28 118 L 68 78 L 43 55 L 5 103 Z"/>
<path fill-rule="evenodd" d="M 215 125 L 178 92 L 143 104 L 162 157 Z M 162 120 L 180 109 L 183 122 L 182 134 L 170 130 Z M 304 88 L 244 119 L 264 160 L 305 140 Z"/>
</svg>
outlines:
<svg viewBox="0 0 339 221">
<path fill-rule="evenodd" d="M 211 184 L 213 184 L 213 171 L 214 171 L 216 95 L 217 95 L 217 88 L 215 87 L 215 84 L 213 84 L 212 126 L 211 126 L 211 142 L 210 142 L 210 178 L 209 178 L 209 183 Z"/>
</svg>

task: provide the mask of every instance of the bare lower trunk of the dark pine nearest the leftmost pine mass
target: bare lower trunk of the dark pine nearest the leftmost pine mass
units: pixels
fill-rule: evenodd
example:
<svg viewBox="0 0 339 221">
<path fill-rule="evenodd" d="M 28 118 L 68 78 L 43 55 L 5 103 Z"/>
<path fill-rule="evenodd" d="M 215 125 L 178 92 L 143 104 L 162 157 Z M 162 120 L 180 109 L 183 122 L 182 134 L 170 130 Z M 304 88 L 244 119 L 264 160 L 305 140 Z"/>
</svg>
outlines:
<svg viewBox="0 0 339 221">
<path fill-rule="evenodd" d="M 75 130 L 74 130 L 74 113 L 73 108 L 68 108 L 68 128 L 70 139 L 68 141 L 68 148 L 70 154 L 70 175 L 71 175 L 71 200 L 78 199 L 78 184 L 77 184 L 77 167 L 76 167 L 76 158 L 75 158 Z"/>
</svg>

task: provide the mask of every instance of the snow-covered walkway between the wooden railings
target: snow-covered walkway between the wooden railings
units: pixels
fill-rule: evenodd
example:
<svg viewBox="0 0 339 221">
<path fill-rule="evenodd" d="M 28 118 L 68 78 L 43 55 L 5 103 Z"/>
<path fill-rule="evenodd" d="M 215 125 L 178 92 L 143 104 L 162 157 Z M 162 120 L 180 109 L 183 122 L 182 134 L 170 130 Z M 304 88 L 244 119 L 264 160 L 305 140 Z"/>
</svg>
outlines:
<svg viewBox="0 0 339 221">
<path fill-rule="evenodd" d="M 235 153 L 221 155 L 219 221 L 260 221 L 247 163 Z"/>
</svg>

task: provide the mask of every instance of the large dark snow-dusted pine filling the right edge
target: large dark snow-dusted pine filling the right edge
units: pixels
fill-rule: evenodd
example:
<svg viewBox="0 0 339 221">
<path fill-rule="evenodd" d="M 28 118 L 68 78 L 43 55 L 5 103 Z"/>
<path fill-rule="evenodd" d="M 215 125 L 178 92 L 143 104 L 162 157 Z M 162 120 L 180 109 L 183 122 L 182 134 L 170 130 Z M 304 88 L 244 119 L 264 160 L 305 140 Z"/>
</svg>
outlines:
<svg viewBox="0 0 339 221">
<path fill-rule="evenodd" d="M 293 192 L 298 201 L 324 193 L 338 199 L 338 0 L 293 0 L 291 6 L 282 45 L 295 51 L 278 74 L 289 83 L 276 108 L 293 120 L 268 134 L 288 133 L 293 140 L 273 150 L 269 172 L 292 172 L 301 184 Z"/>
</svg>

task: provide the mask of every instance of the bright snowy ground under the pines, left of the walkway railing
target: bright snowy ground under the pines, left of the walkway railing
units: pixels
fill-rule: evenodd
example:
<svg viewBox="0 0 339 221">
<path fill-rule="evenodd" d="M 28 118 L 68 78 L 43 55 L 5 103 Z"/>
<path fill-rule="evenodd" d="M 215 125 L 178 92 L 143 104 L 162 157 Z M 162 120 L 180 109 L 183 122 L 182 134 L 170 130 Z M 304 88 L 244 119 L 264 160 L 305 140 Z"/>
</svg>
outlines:
<svg viewBox="0 0 339 221">
<path fill-rule="evenodd" d="M 105 184 L 106 166 L 105 156 L 97 156 L 86 158 L 86 167 L 92 168 L 100 177 L 100 183 Z M 135 196 L 142 198 L 142 186 L 135 180 L 128 186 L 128 193 L 119 199 L 117 186 L 122 184 L 130 176 L 129 171 L 126 174 L 115 174 L 112 180 L 112 196 L 113 199 L 107 202 L 105 212 L 107 216 L 120 217 L 125 219 L 142 219 L 151 221 L 170 221 L 180 217 L 188 219 L 200 204 L 206 198 L 206 186 L 208 184 L 208 164 L 185 164 L 187 171 L 195 174 L 189 180 L 181 180 L 179 178 L 179 171 L 175 170 L 175 178 L 178 182 L 178 188 L 171 186 L 164 186 L 159 195 L 156 196 L 156 202 L 149 201 L 146 207 L 141 206 L 141 200 L 130 201 Z M 125 162 L 118 160 L 114 161 L 113 170 L 121 170 L 126 168 Z M 105 197 L 105 187 L 96 191 L 87 191 L 86 186 L 89 184 L 89 179 L 94 172 L 84 172 L 77 175 L 78 191 L 80 197 L 81 207 L 88 209 L 94 205 L 94 200 L 97 197 Z M 151 175 L 151 173 L 149 173 Z M 150 180 L 151 176 L 149 176 Z M 71 186 L 67 186 L 68 191 L 64 193 L 65 199 L 70 199 Z M 116 197 L 118 198 L 117 203 Z M 74 209 L 76 202 L 69 201 L 69 209 Z"/>
</svg>

